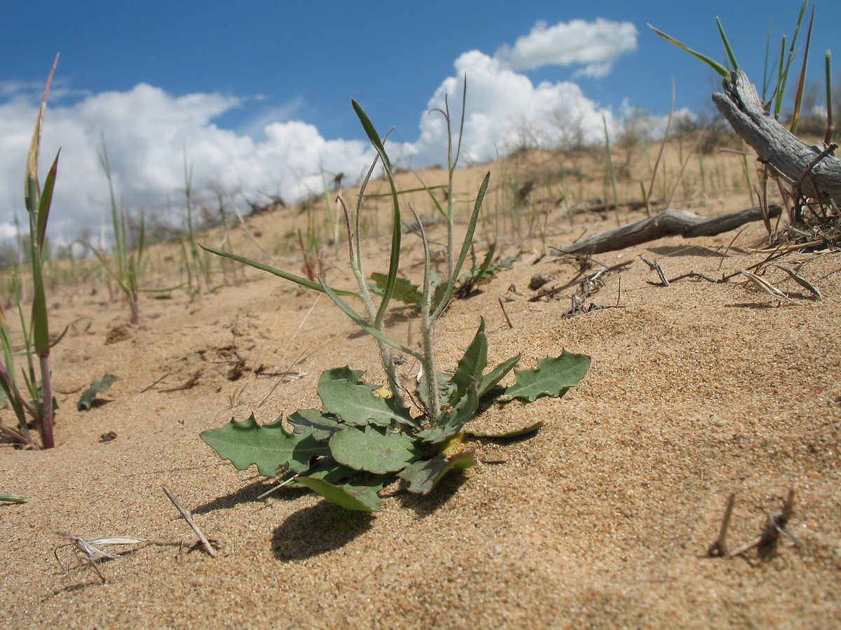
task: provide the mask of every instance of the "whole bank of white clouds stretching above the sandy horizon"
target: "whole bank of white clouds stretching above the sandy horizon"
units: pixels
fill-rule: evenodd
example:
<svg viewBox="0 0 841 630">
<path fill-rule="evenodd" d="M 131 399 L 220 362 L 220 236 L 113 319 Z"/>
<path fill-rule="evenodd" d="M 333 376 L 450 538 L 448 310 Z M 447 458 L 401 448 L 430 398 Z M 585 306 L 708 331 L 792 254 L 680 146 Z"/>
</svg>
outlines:
<svg viewBox="0 0 841 630">
<path fill-rule="evenodd" d="M 580 66 L 575 76 L 605 76 L 621 55 L 636 47 L 637 29 L 631 23 L 602 18 L 554 26 L 539 22 L 531 33 L 513 46 L 500 47 L 493 56 L 479 50 L 460 55 L 454 62 L 455 75 L 442 81 L 427 108 L 443 108 L 448 95 L 452 118 L 458 121 L 467 76 L 462 145 L 466 162 L 493 160 L 524 141 L 556 146 L 599 141 L 604 137 L 602 116 L 612 124 L 611 111 L 588 99 L 572 81 L 535 85 L 522 71 Z M 31 88 L 0 86 L 0 190 L 7 196 L 0 213 L 0 237 L 14 234 L 13 209 L 22 207 L 25 155 L 38 106 Z M 289 202 L 320 192 L 322 171 L 346 173 L 353 180 L 373 160 L 367 142 L 325 139 L 314 125 L 299 120 L 268 122 L 264 115 L 262 134 L 254 133 L 254 125 L 240 133 L 220 129 L 214 120 L 239 107 L 240 97 L 172 96 L 140 83 L 125 92 L 77 98 L 71 105 L 50 107 L 45 122 L 42 160 L 51 160 L 62 147 L 55 211 L 50 217 L 54 239 L 71 240 L 82 228 L 98 231 L 107 216 L 108 189 L 99 164 L 103 139 L 115 191 L 126 207 L 163 207 L 170 199 L 177 206 L 185 156 L 192 167 L 193 186 L 222 186 L 229 192 L 241 191 L 248 199 L 262 192 Z M 419 127 L 415 142 L 392 147 L 395 161 L 416 168 L 444 163 L 443 118 L 425 112 Z M 42 164 L 41 170 L 45 168 Z"/>
</svg>

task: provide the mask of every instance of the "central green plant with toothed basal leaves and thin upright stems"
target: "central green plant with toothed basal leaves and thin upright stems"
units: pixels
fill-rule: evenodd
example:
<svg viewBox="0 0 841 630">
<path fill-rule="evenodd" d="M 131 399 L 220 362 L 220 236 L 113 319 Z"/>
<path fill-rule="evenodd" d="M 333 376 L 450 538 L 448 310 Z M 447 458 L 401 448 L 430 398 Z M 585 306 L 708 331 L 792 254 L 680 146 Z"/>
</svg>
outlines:
<svg viewBox="0 0 841 630">
<path fill-rule="evenodd" d="M 359 291 L 334 289 L 321 278 L 309 281 L 219 249 L 202 247 L 214 254 L 266 270 L 299 286 L 326 293 L 337 307 L 373 337 L 392 396 L 375 394 L 377 386 L 362 381 L 362 371 L 340 367 L 327 370 L 320 377 L 318 395 L 321 409 L 303 409 L 288 416 L 288 424 L 293 428 L 291 432 L 284 427 L 283 417 L 261 426 L 251 414 L 243 422 L 231 420 L 225 427 L 204 431 L 201 437 L 222 459 L 230 459 L 237 470 L 257 465 L 261 475 L 281 477 L 280 486 L 306 486 L 341 507 L 371 512 L 379 509 L 378 492 L 394 480 L 395 475 L 405 481 L 410 492 L 426 495 L 447 471 L 473 466 L 476 463 L 474 454 L 463 444 L 471 437 L 515 437 L 536 431 L 542 423 L 500 434 L 471 432 L 466 425 L 481 410 L 493 404 L 514 399 L 534 402 L 542 396 L 563 396 L 584 378 L 590 367 L 590 357 L 563 350 L 558 357 L 538 360 L 537 369 L 515 370 L 521 358 L 518 354 L 488 370 L 488 339 L 482 319 L 479 330 L 458 360 L 455 370 L 450 373 L 438 370 L 434 351 L 436 323 L 458 289 L 490 174 L 484 177 L 479 188 L 467 234 L 458 252 L 452 245 L 454 200 L 451 177 L 447 209 L 442 211 L 449 230 L 446 279 L 436 281 L 431 265 L 430 242 L 418 214 L 410 206 L 417 225 L 421 226 L 418 231 L 425 258 L 419 314 L 421 349 L 408 348 L 389 337 L 384 326 L 386 312 L 391 300 L 399 299 L 399 291 L 406 285 L 406 281 L 398 276 L 401 239 L 399 192 L 394 185 L 384 140 L 359 104 L 352 101 L 352 106 L 377 152 L 362 183 L 356 212 L 351 213 L 341 197 L 338 200 L 345 213 L 350 263 Z M 458 149 L 454 156 L 446 101 L 445 109 L 437 111 L 447 119 L 452 175 L 458 160 Z M 463 123 L 462 113 L 459 147 Z M 391 190 L 391 252 L 384 280 L 379 275 L 376 286 L 368 286 L 360 252 L 360 213 L 365 188 L 378 160 L 382 162 Z M 439 210 L 442 208 L 439 207 Z M 379 297 L 378 304 L 375 304 L 372 294 Z M 364 313 L 357 312 L 346 302 L 346 297 L 361 301 Z M 407 386 L 401 382 L 394 362 L 394 350 L 420 362 L 421 377 L 415 380 L 415 391 L 406 391 Z M 515 382 L 501 386 L 501 381 L 512 370 L 516 375 Z M 408 398 L 415 403 L 419 413 L 412 412 L 406 403 Z"/>
</svg>

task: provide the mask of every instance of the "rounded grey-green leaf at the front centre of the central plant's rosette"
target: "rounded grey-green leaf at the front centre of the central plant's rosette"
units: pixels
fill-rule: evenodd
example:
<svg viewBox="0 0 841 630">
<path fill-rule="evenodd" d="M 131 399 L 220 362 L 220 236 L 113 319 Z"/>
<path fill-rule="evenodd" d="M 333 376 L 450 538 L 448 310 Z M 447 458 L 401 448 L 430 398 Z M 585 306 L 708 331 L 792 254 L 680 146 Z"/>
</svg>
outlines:
<svg viewBox="0 0 841 630">
<path fill-rule="evenodd" d="M 379 427 L 348 427 L 330 438 L 330 451 L 340 464 L 378 475 L 403 470 L 420 456 L 415 439 Z"/>
</svg>

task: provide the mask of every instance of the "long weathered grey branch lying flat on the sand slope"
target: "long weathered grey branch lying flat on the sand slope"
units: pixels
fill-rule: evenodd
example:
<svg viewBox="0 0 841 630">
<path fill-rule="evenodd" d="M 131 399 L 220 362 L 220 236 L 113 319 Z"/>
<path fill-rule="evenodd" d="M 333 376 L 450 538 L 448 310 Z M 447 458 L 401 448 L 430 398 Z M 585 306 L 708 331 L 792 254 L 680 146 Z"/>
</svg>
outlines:
<svg viewBox="0 0 841 630">
<path fill-rule="evenodd" d="M 776 203 L 768 207 L 770 216 L 777 217 L 782 208 Z M 697 214 L 685 210 L 664 210 L 662 213 L 644 218 L 637 223 L 623 225 L 621 228 L 610 229 L 601 234 L 595 234 L 588 239 L 579 240 L 568 247 L 553 247 L 556 255 L 564 254 L 600 254 L 616 249 L 625 249 L 632 245 L 647 243 L 651 240 L 662 239 L 664 236 L 680 236 L 693 239 L 697 236 L 715 236 L 722 232 L 742 226 L 744 223 L 759 221 L 762 218 L 762 207 L 748 207 L 735 213 L 721 214 L 717 217 L 699 217 Z"/>
</svg>

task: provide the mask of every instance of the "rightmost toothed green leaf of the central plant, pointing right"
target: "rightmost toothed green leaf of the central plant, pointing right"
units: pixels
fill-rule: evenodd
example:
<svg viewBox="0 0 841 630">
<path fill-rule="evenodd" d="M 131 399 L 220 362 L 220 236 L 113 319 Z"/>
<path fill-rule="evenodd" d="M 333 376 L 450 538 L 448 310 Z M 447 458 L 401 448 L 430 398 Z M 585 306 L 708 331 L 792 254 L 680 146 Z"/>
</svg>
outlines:
<svg viewBox="0 0 841 630">
<path fill-rule="evenodd" d="M 514 370 L 516 383 L 506 387 L 500 396 L 496 397 L 496 402 L 506 402 L 514 398 L 535 402 L 542 396 L 560 398 L 570 387 L 578 385 L 589 369 L 589 356 L 563 350 L 559 357 L 538 360 L 536 370 Z"/>
</svg>

